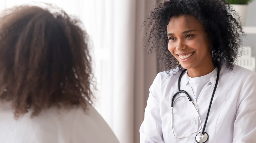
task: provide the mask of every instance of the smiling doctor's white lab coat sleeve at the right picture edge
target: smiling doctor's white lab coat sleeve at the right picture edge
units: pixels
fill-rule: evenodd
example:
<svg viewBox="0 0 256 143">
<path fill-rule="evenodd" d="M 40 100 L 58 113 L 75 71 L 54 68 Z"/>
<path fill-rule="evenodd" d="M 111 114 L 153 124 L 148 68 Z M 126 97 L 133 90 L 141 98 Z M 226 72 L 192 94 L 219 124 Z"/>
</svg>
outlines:
<svg viewBox="0 0 256 143">
<path fill-rule="evenodd" d="M 256 74 L 247 76 L 237 102 L 233 143 L 256 142 Z"/>
</svg>

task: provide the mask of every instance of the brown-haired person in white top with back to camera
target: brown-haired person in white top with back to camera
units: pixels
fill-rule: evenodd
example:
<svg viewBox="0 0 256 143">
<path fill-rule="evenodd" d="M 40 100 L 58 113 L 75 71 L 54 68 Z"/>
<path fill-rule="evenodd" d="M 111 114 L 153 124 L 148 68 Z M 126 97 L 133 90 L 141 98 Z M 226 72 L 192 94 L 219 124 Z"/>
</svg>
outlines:
<svg viewBox="0 0 256 143">
<path fill-rule="evenodd" d="M 95 82 L 80 24 L 51 5 L 1 15 L 1 143 L 118 143 L 91 105 Z"/>
</svg>

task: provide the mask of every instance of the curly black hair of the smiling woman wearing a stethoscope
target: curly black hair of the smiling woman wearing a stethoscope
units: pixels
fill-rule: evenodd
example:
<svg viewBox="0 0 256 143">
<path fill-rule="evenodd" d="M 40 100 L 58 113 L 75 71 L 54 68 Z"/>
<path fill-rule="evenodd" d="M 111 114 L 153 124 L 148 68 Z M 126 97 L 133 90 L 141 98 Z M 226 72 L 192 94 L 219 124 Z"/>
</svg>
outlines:
<svg viewBox="0 0 256 143">
<path fill-rule="evenodd" d="M 160 71 L 180 67 L 168 50 L 167 25 L 173 16 L 197 18 L 212 45 L 213 63 L 233 69 L 244 35 L 239 16 L 225 0 L 168 0 L 159 3 L 144 21 L 144 52 L 157 53 Z M 166 71 L 169 73 L 169 71 Z"/>
</svg>

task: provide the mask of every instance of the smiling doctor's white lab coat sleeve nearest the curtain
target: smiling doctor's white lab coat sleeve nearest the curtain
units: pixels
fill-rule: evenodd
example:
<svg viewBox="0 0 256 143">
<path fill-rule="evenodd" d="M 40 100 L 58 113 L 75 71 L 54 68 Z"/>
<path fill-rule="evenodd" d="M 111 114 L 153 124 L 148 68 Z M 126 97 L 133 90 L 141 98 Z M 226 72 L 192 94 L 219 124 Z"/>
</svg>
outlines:
<svg viewBox="0 0 256 143">
<path fill-rule="evenodd" d="M 149 88 L 145 118 L 140 126 L 140 143 L 163 143 L 160 118 L 160 74 Z"/>
</svg>

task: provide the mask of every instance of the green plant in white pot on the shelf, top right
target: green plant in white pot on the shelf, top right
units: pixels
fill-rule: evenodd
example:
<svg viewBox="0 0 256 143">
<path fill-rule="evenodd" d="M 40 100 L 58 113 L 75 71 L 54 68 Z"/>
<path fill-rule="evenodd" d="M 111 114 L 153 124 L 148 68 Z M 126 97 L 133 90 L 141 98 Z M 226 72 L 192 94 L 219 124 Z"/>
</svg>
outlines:
<svg viewBox="0 0 256 143">
<path fill-rule="evenodd" d="M 253 0 L 226 0 L 238 13 L 242 25 L 245 26 L 248 3 Z"/>
</svg>

